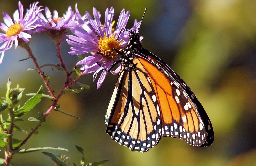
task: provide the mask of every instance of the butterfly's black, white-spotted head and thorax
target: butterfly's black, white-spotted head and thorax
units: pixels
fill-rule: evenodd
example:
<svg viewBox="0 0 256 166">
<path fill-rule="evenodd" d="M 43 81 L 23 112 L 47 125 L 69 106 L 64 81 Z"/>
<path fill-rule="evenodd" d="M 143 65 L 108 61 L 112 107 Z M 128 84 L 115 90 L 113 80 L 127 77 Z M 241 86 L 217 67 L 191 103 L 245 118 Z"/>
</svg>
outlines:
<svg viewBox="0 0 256 166">
<path fill-rule="evenodd" d="M 123 55 L 121 57 L 121 64 L 126 70 L 134 66 L 132 63 L 133 58 L 135 57 L 134 53 L 136 51 L 141 51 L 142 49 L 143 47 L 140 43 L 140 36 L 135 31 L 131 31 L 129 41 L 125 45 L 124 50 L 122 51 Z"/>
</svg>

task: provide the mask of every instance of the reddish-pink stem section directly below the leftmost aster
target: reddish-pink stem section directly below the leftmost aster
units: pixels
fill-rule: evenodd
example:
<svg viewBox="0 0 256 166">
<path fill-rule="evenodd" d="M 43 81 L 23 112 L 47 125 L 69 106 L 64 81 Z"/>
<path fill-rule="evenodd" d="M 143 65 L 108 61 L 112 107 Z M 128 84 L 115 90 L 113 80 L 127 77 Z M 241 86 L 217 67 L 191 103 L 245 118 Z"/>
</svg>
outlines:
<svg viewBox="0 0 256 166">
<path fill-rule="evenodd" d="M 44 76 L 44 73 L 42 72 L 42 70 L 40 69 L 36 57 L 34 56 L 34 54 L 32 53 L 31 49 L 29 48 L 28 44 L 24 44 L 23 47 L 27 50 L 29 56 L 31 57 L 31 59 L 34 61 L 34 64 L 36 65 L 36 69 L 38 71 L 38 73 L 41 75 L 41 77 L 44 80 L 45 86 L 47 87 L 49 93 L 51 94 L 52 97 L 55 97 L 54 92 L 52 91 L 48 81 L 46 80 L 46 77 Z"/>
</svg>

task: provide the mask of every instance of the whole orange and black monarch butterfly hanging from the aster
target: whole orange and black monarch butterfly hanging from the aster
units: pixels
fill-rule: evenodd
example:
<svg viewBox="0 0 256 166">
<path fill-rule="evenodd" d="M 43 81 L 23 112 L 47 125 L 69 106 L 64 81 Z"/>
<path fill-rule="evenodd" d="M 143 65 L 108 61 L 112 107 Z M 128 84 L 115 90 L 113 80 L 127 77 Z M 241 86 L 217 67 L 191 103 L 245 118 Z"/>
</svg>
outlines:
<svg viewBox="0 0 256 166">
<path fill-rule="evenodd" d="M 129 31 L 122 68 L 105 116 L 106 133 L 132 151 L 146 152 L 161 137 L 210 146 L 214 132 L 203 106 L 188 85 Z"/>
</svg>

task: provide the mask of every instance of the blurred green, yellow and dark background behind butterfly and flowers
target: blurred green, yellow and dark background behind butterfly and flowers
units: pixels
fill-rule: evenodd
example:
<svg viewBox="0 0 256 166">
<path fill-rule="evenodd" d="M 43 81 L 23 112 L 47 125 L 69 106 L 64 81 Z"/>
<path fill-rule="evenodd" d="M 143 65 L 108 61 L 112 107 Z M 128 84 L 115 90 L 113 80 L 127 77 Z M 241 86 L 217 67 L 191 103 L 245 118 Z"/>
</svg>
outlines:
<svg viewBox="0 0 256 166">
<path fill-rule="evenodd" d="M 25 8 L 33 1 L 22 0 Z M 177 138 L 162 138 L 160 143 L 146 153 L 132 152 L 120 146 L 105 133 L 104 116 L 116 82 L 116 75 L 108 74 L 100 89 L 92 81 L 92 74 L 83 76 L 79 82 L 90 85 L 90 90 L 79 94 L 64 94 L 59 104 L 61 110 L 80 117 L 77 120 L 53 111 L 39 131 L 23 148 L 64 147 L 69 149 L 71 159 L 78 164 L 81 155 L 75 145 L 85 149 L 88 162 L 108 159 L 106 166 L 143 165 L 256 165 L 256 1 L 255 0 L 42 0 L 39 5 L 65 13 L 75 3 L 83 15 L 92 13 L 96 7 L 102 15 L 106 8 L 115 9 L 117 21 L 120 11 L 130 10 L 129 25 L 134 19 L 141 20 L 144 36 L 143 47 L 160 57 L 194 91 L 212 121 L 215 141 L 210 147 L 192 147 Z M 0 0 L 0 11 L 12 16 L 18 9 L 18 0 Z M 1 22 L 3 22 L 1 14 Z M 102 17 L 102 22 L 103 22 Z M 60 64 L 56 57 L 54 42 L 45 33 L 33 35 L 30 46 L 40 65 Z M 61 52 L 69 70 L 77 57 L 68 54 L 66 42 Z M 0 65 L 0 94 L 5 96 L 6 83 L 10 77 L 12 88 L 17 84 L 26 88 L 25 93 L 36 92 L 43 81 L 39 74 L 27 71 L 34 68 L 25 49 L 14 47 L 6 51 Z M 43 68 L 50 76 L 50 84 L 59 92 L 65 75 L 51 68 Z M 44 93 L 47 91 L 44 89 Z M 24 103 L 29 97 L 24 96 Z M 23 103 L 21 105 L 23 105 Z M 22 129 L 30 131 L 36 124 L 28 117 L 45 112 L 49 99 L 42 99 L 32 111 L 24 116 Z M 2 112 L 6 114 L 6 112 Z M 18 124 L 19 123 L 19 124 Z M 26 134 L 15 132 L 16 138 Z M 4 158 L 1 149 L 0 158 Z M 49 151 L 60 153 L 58 151 Z M 51 159 L 41 152 L 17 154 L 15 165 L 46 166 Z"/>
</svg>

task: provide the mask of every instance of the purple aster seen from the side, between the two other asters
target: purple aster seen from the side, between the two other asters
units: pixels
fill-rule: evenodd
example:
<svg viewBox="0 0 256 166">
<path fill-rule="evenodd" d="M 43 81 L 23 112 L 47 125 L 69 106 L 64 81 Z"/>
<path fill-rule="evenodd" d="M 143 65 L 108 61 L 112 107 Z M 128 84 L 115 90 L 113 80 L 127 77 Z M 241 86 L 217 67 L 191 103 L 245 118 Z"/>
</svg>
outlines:
<svg viewBox="0 0 256 166">
<path fill-rule="evenodd" d="M 53 11 L 53 16 L 48 7 L 45 7 L 45 16 L 40 12 L 38 24 L 41 24 L 37 28 L 38 34 L 41 31 L 46 31 L 53 40 L 60 41 L 64 40 L 65 34 L 67 33 L 66 29 L 72 27 L 72 22 L 75 20 L 75 14 L 72 11 L 71 6 L 68 7 L 66 14 L 63 14 L 63 17 L 59 17 L 59 14 L 56 10 Z"/>
</svg>

